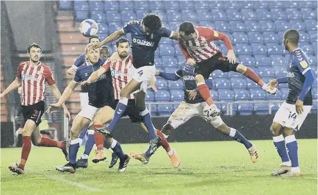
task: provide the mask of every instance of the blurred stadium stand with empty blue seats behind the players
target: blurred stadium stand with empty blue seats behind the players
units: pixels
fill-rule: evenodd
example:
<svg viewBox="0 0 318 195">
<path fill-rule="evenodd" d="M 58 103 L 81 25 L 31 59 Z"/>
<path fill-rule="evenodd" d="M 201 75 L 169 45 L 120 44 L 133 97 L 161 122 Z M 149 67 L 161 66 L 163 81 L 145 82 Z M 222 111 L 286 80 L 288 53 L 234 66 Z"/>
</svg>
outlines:
<svg viewBox="0 0 318 195">
<path fill-rule="evenodd" d="M 41 61 L 51 68 L 62 92 L 73 78 L 67 74 L 67 69 L 83 53 L 88 42 L 88 38 L 78 31 L 81 21 L 94 19 L 103 40 L 126 22 L 142 19 L 149 12 L 160 15 L 163 24 L 174 31 L 178 30 L 178 24 L 188 20 L 226 33 L 232 41 L 237 61 L 251 67 L 266 83 L 286 75 L 288 55 L 282 44 L 283 33 L 287 28 L 297 29 L 301 34 L 299 46 L 308 54 L 316 78 L 312 87 L 315 103 L 303 131 L 311 130 L 310 137 L 317 137 L 317 1 L 1 1 L 1 92 L 15 79 L 19 63 L 28 60 L 26 47 L 32 42 L 42 46 Z M 130 40 L 130 35 L 127 38 Z M 111 52 L 115 51 L 114 44 L 108 45 Z M 227 53 L 223 42 L 215 44 Z M 156 51 L 156 69 L 173 72 L 184 60 L 176 41 L 161 40 Z M 253 136 L 256 136 L 254 139 L 270 138 L 268 129 L 274 113 L 287 96 L 287 85 L 281 85 L 278 93 L 272 96 L 235 72 L 215 71 L 211 78 L 210 92 L 224 114 L 224 121 L 235 124 L 255 122 L 250 124 L 251 129 L 266 125 L 262 135 L 253 133 Z M 154 124 L 161 128 L 167 121 L 165 117 L 169 117 L 183 99 L 183 83 L 182 80 L 174 82 L 158 78 L 156 86 L 158 93 L 149 91 L 147 103 L 151 115 L 158 117 L 153 119 Z M 55 139 L 67 137 L 69 125 L 81 108 L 80 90 L 80 87 L 76 88 L 67 102 L 72 113 L 70 123 L 63 118 L 62 112 L 43 115 L 42 119 L 48 121 L 47 129 Z M 56 102 L 49 88 L 45 102 L 46 105 Z M 20 107 L 17 90 L 1 99 L 1 147 L 14 144 L 14 133 L 22 120 L 18 115 Z M 199 119 L 194 119 L 189 125 L 193 128 L 201 125 L 198 123 L 201 123 Z M 135 128 L 128 126 L 128 121 L 119 124 L 122 131 Z M 183 128 L 185 132 L 187 127 L 190 128 Z M 208 128 L 203 125 L 206 131 Z M 194 140 L 176 141 L 200 141 L 210 139 L 209 136 L 217 139 L 215 135 L 203 135 Z M 126 142 L 142 140 L 122 139 Z"/>
</svg>

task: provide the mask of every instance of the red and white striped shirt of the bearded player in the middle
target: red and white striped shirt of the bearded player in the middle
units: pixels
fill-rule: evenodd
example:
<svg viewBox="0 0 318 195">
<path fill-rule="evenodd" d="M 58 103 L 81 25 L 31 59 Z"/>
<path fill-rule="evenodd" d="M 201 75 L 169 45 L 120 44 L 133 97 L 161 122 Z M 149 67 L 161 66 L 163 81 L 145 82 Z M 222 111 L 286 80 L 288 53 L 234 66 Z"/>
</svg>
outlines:
<svg viewBox="0 0 318 195">
<path fill-rule="evenodd" d="M 129 55 L 122 61 L 111 63 L 109 60 L 103 65 L 103 68 L 110 69 L 112 73 L 112 87 L 114 87 L 115 99 L 120 99 L 120 90 L 122 90 L 131 80 L 131 67 L 133 67 L 133 56 Z M 134 99 L 131 94 L 128 99 Z"/>
</svg>

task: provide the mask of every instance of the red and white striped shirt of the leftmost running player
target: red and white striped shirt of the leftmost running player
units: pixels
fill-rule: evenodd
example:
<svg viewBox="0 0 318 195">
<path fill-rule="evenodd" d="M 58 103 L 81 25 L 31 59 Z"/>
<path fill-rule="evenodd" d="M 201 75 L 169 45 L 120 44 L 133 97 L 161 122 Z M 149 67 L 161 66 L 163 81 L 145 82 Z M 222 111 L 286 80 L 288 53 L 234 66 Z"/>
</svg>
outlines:
<svg viewBox="0 0 318 195">
<path fill-rule="evenodd" d="M 22 82 L 22 105 L 33 105 L 43 101 L 45 97 L 45 83 L 50 86 L 56 82 L 51 69 L 40 62 L 30 66 L 30 62 L 22 62 L 17 70 L 17 78 Z"/>
</svg>

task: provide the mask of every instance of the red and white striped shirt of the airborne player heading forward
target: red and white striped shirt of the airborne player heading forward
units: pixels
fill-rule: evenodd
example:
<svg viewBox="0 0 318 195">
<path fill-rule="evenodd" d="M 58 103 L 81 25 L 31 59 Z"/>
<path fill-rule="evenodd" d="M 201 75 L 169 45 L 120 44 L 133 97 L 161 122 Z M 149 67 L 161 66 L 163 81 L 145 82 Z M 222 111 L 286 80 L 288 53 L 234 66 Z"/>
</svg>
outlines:
<svg viewBox="0 0 318 195">
<path fill-rule="evenodd" d="M 196 62 L 201 62 L 215 56 L 220 50 L 214 44 L 214 40 L 223 40 L 226 48 L 232 49 L 227 35 L 203 26 L 194 26 L 194 29 L 198 35 L 196 39 L 187 41 L 179 39 L 179 46 L 186 60 L 193 58 Z"/>
</svg>

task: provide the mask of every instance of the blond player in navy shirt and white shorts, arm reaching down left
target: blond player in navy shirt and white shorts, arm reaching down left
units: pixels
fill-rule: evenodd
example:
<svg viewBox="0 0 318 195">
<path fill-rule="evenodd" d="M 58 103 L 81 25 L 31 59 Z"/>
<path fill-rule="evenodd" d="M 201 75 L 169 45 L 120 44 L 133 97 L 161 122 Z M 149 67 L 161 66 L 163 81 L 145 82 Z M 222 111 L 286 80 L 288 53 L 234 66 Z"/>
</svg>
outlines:
<svg viewBox="0 0 318 195">
<path fill-rule="evenodd" d="M 78 85 L 78 83 L 83 80 L 87 80 L 90 77 L 92 72 L 97 71 L 99 67 L 101 67 L 106 59 L 99 58 L 99 49 L 94 49 L 92 44 L 88 44 L 85 48 L 85 57 L 87 58 L 87 62 L 84 65 L 81 65 L 76 70 L 76 74 L 71 83 L 64 90 L 60 100 L 58 103 L 53 103 L 49 106 L 47 112 L 51 112 L 52 110 L 56 110 L 60 108 L 62 103 L 67 101 L 69 96 L 74 92 L 74 89 Z M 89 103 L 86 105 L 81 112 L 76 115 L 72 128 L 71 128 L 71 139 L 69 144 L 69 163 L 64 166 L 58 166 L 56 169 L 62 172 L 76 172 L 76 154 L 79 148 L 78 134 L 83 130 L 85 126 L 88 126 L 90 122 L 93 120 L 98 120 L 99 122 L 106 123 L 110 121 L 111 115 L 108 113 L 112 113 L 112 108 L 110 107 L 114 103 L 114 91 L 112 89 L 112 78 L 110 72 L 103 74 L 97 80 L 97 82 L 92 83 L 89 87 Z M 96 116 L 95 116 L 96 115 Z M 90 126 L 89 129 L 94 129 Z M 116 153 L 119 157 L 119 172 L 124 172 L 126 170 L 127 164 L 129 162 L 128 155 L 125 155 L 122 151 L 122 147 L 119 142 L 115 139 L 107 137 L 106 144 L 110 146 L 110 148 Z"/>
</svg>

